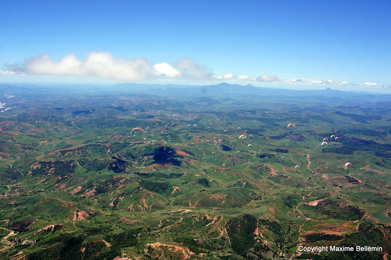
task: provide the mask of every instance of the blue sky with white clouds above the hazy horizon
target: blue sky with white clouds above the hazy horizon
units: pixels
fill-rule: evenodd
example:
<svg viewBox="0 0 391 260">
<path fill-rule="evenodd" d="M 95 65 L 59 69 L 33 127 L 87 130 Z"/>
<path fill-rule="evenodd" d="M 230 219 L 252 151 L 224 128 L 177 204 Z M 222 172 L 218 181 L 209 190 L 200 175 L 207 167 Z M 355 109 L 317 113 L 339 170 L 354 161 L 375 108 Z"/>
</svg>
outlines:
<svg viewBox="0 0 391 260">
<path fill-rule="evenodd" d="M 391 1 L 1 1 L 0 83 L 391 93 Z"/>
</svg>

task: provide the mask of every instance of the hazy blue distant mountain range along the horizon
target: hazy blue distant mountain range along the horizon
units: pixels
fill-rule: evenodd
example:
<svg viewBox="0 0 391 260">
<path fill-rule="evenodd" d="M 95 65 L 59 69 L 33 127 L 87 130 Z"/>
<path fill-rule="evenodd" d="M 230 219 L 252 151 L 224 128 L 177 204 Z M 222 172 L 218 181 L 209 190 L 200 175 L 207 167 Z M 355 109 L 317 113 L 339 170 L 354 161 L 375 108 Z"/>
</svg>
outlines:
<svg viewBox="0 0 391 260">
<path fill-rule="evenodd" d="M 291 97 L 327 97 L 340 98 L 343 100 L 361 100 L 367 102 L 391 102 L 390 94 L 373 94 L 368 92 L 353 92 L 336 90 L 327 87 L 324 90 L 295 90 L 271 87 L 255 87 L 251 84 L 241 86 L 238 84 L 219 83 L 209 86 L 196 85 L 175 85 L 175 84 L 138 84 L 138 83 L 121 83 L 113 86 L 86 86 L 86 85 L 32 85 L 32 84 L 0 84 L 0 93 L 15 94 L 18 91 L 27 91 L 30 93 L 51 93 L 67 94 L 72 92 L 130 92 L 130 93 L 148 93 L 148 94 L 170 94 L 171 90 L 175 94 L 187 93 L 194 95 L 211 95 L 211 94 L 242 94 L 242 95 L 259 95 L 267 97 L 291 96 Z"/>
</svg>

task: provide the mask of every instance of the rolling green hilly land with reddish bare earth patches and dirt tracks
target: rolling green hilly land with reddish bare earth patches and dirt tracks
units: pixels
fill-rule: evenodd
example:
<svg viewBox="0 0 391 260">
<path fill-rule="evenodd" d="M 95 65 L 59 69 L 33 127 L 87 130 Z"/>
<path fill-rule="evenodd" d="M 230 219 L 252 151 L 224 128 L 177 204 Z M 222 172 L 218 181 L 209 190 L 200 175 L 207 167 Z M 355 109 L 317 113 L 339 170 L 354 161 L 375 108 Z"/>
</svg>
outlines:
<svg viewBox="0 0 391 260">
<path fill-rule="evenodd" d="M 0 259 L 300 259 L 299 245 L 360 239 L 390 252 L 390 102 L 247 88 L 13 86 Z"/>
</svg>

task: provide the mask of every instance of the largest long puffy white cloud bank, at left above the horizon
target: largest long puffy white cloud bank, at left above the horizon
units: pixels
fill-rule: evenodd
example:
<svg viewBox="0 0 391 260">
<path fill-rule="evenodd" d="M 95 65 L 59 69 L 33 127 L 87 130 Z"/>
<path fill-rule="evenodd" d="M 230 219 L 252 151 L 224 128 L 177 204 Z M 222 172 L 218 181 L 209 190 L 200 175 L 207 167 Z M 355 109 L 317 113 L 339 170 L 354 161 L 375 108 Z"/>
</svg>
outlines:
<svg viewBox="0 0 391 260">
<path fill-rule="evenodd" d="M 192 59 L 180 60 L 174 65 L 166 62 L 152 65 L 146 58 L 117 59 L 110 52 L 89 53 L 84 60 L 74 54 L 68 54 L 59 61 L 49 55 L 35 56 L 25 60 L 21 66 L 7 65 L 9 73 L 32 75 L 81 76 L 113 79 L 119 81 L 139 81 L 153 78 L 212 79 L 213 74 L 204 66 L 197 65 Z M 224 75 L 229 78 L 232 74 Z M 233 75 L 232 75 L 233 76 Z"/>
</svg>

